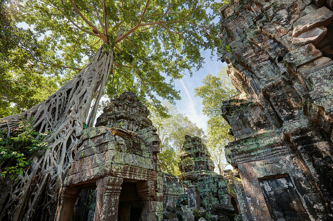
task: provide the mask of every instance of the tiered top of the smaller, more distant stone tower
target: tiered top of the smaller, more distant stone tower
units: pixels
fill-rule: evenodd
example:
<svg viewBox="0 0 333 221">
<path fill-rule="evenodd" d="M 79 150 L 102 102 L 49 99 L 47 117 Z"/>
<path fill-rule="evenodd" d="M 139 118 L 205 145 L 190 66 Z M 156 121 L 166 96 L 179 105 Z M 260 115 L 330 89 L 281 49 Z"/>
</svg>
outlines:
<svg viewBox="0 0 333 221">
<path fill-rule="evenodd" d="M 180 149 L 178 164 L 179 180 L 195 181 L 200 177 L 214 176 L 214 163 L 201 138 L 185 135 L 183 147 Z"/>
</svg>

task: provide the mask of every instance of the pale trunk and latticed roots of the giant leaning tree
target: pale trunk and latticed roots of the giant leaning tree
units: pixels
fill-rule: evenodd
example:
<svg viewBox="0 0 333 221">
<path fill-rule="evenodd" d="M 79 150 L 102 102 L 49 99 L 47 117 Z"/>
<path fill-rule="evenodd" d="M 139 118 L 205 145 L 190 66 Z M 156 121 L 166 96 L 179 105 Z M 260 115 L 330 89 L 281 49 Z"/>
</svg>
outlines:
<svg viewBox="0 0 333 221">
<path fill-rule="evenodd" d="M 33 163 L 24 169 L 17 184 L 8 178 L 0 180 L 0 191 L 10 189 L 8 200 L 0 207 L 0 220 L 54 219 L 59 188 L 74 156 L 79 154 L 76 134 L 83 128 L 98 88 L 101 86 L 100 93 L 104 89 L 112 61 L 113 53 L 100 47 L 76 77 L 44 102 L 22 114 L 0 119 L 0 128 L 8 128 L 8 133 L 24 119 L 32 119 L 33 128 L 40 133 L 51 131 L 46 138 L 48 149 L 41 157 L 32 156 Z"/>
</svg>

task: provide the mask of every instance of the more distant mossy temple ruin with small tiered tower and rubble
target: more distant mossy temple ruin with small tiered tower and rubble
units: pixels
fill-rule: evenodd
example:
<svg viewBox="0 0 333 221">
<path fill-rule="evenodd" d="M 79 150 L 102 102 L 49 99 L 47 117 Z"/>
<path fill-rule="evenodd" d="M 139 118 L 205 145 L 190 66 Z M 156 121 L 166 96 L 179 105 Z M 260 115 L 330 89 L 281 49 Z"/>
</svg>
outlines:
<svg viewBox="0 0 333 221">
<path fill-rule="evenodd" d="M 214 172 L 207 147 L 198 137 L 185 136 L 179 157 L 180 182 L 172 177 L 173 182 L 163 185 L 164 189 L 171 189 L 177 183 L 183 184 L 184 194 L 178 195 L 176 203 L 164 203 L 164 219 L 177 217 L 177 220 L 190 221 L 201 217 L 207 220 L 235 220 L 239 206 L 233 181 L 236 178 L 232 172 L 227 171 L 227 174 L 233 180 Z M 168 178 L 166 174 L 164 176 Z M 169 198 L 167 192 L 164 191 L 163 197 Z"/>
</svg>

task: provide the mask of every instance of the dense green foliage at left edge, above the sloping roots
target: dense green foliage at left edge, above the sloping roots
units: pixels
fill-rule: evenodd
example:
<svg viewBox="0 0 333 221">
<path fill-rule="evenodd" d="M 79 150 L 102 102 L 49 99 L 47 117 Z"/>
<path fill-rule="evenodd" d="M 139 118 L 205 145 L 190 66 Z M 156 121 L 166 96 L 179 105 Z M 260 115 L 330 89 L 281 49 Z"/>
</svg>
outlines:
<svg viewBox="0 0 333 221">
<path fill-rule="evenodd" d="M 39 35 L 17 28 L 13 17 L 0 0 L 0 118 L 31 108 L 58 88 L 59 76 L 47 77 L 54 54 Z"/>
</svg>

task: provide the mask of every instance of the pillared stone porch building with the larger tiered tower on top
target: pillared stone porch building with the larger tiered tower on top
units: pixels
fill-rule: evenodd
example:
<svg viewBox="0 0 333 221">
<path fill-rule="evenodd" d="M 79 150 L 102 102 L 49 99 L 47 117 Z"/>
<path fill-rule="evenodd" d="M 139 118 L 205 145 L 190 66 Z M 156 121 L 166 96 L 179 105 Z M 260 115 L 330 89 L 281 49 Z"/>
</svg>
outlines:
<svg viewBox="0 0 333 221">
<path fill-rule="evenodd" d="M 96 189 L 94 220 L 162 220 L 160 139 L 136 95 L 114 99 L 95 128 L 78 136 L 77 155 L 60 195 L 57 220 L 72 220 L 81 189 Z"/>
</svg>

